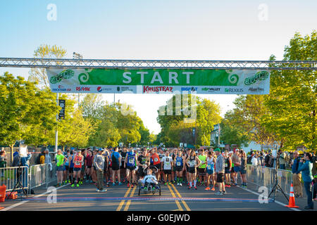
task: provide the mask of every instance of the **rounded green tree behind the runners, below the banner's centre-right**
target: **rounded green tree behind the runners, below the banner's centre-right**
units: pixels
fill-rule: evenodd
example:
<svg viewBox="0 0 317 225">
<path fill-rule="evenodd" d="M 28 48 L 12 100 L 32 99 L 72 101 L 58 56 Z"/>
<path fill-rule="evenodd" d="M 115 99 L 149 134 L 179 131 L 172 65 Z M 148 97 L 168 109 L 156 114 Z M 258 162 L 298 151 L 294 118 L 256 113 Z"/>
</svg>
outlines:
<svg viewBox="0 0 317 225">
<path fill-rule="evenodd" d="M 186 105 L 184 102 L 188 104 Z M 193 111 L 196 108 L 196 112 L 193 113 L 196 116 L 196 120 L 185 120 L 192 116 L 181 113 L 187 107 Z M 218 104 L 201 98 L 197 98 L 196 103 L 192 103 L 192 96 L 190 94 L 174 95 L 161 109 L 165 109 L 166 112 L 172 109 L 171 113 L 159 115 L 157 118 L 161 125 L 161 132 L 158 138 L 167 146 L 178 146 L 180 142 L 192 145 L 196 144 L 197 146 L 209 145 L 213 125 L 221 120 Z M 196 128 L 196 136 L 192 136 L 193 128 Z"/>
</svg>

